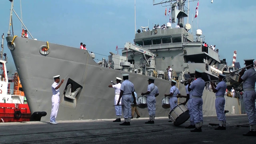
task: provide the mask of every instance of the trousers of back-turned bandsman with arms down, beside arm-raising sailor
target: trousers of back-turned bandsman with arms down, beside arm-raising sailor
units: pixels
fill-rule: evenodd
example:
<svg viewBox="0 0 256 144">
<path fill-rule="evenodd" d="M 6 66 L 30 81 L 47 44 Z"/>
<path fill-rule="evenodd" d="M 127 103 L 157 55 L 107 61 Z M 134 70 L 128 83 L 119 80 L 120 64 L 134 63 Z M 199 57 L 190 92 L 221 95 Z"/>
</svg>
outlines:
<svg viewBox="0 0 256 144">
<path fill-rule="evenodd" d="M 132 95 L 123 95 L 122 96 L 122 112 L 124 114 L 124 118 L 131 118 L 131 103 L 132 103 Z"/>
</svg>

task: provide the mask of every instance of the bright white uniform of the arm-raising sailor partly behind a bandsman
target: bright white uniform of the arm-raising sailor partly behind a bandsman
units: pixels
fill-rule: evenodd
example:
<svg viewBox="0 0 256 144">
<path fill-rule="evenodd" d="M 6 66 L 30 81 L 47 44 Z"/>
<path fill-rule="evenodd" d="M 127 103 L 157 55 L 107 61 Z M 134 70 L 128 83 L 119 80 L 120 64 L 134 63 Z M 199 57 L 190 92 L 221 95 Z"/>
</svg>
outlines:
<svg viewBox="0 0 256 144">
<path fill-rule="evenodd" d="M 120 87 L 121 87 L 121 83 L 118 84 L 114 84 L 112 85 L 112 87 L 115 89 L 115 99 L 114 99 L 114 104 L 116 105 L 119 99 L 119 95 L 120 95 Z M 122 98 L 120 99 L 120 105 L 122 104 Z M 115 106 L 115 110 L 116 110 L 116 117 L 121 118 L 122 116 L 122 106 Z"/>
</svg>

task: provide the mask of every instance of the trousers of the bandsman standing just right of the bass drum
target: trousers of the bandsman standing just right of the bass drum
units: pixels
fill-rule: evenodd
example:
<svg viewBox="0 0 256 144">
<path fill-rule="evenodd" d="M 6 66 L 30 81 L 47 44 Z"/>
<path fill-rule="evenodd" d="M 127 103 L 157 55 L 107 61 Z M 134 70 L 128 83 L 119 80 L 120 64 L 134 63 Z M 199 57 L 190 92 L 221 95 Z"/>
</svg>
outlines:
<svg viewBox="0 0 256 144">
<path fill-rule="evenodd" d="M 192 111 L 195 123 L 203 122 L 203 99 L 192 98 Z"/>
</svg>

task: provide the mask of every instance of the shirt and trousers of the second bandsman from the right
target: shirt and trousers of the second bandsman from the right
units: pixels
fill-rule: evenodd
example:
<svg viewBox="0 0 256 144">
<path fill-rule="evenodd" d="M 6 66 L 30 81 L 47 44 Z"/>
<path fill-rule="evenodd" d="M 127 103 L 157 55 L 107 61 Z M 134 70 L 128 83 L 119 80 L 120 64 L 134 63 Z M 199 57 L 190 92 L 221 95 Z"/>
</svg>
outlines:
<svg viewBox="0 0 256 144">
<path fill-rule="evenodd" d="M 224 113 L 224 107 L 225 107 L 224 95 L 227 89 L 227 84 L 225 83 L 225 81 L 221 81 L 218 83 L 215 89 L 217 90 L 217 92 L 215 93 L 216 114 L 217 114 L 218 120 L 220 121 L 220 126 L 226 127 L 226 116 Z"/>
</svg>

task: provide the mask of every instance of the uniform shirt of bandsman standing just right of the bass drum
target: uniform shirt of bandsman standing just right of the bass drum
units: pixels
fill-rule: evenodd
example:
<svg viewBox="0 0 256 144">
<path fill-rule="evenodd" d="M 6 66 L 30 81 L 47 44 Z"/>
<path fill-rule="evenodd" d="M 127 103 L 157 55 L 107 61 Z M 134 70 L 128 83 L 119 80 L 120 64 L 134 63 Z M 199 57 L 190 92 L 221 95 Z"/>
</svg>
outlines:
<svg viewBox="0 0 256 144">
<path fill-rule="evenodd" d="M 202 78 L 197 78 L 189 86 L 189 88 L 192 89 L 192 96 L 200 96 L 200 97 L 203 96 L 204 87 L 205 87 L 205 82 Z"/>
</svg>

